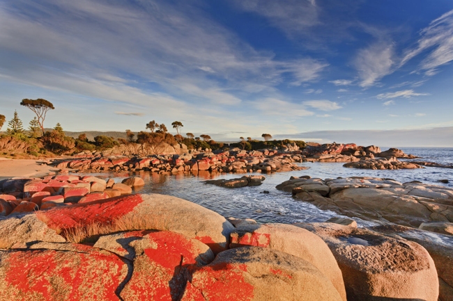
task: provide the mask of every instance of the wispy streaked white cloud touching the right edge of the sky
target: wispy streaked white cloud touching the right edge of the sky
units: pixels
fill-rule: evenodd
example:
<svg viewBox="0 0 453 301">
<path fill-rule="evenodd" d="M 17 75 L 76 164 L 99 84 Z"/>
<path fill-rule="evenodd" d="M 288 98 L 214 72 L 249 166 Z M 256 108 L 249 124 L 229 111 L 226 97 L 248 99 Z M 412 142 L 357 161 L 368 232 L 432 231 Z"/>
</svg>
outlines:
<svg viewBox="0 0 453 301">
<path fill-rule="evenodd" d="M 420 36 L 417 47 L 406 49 L 404 52 L 400 66 L 431 49 L 419 68 L 424 70 L 427 76 L 432 76 L 438 72 L 438 67 L 453 60 L 453 10 L 433 20 L 427 28 L 420 31 Z"/>
</svg>

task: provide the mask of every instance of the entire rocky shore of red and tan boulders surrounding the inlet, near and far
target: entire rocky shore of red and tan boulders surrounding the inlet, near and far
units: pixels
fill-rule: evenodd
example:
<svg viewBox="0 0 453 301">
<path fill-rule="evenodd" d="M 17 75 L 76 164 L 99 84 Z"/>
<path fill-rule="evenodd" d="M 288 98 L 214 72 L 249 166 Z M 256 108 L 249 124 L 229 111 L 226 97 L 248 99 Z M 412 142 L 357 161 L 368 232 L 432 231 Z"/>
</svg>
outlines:
<svg viewBox="0 0 453 301">
<path fill-rule="evenodd" d="M 399 149 L 334 144 L 100 154 L 58 167 L 240 174 L 302 170 L 296 163 L 310 161 L 376 170 L 415 165 L 397 156 L 413 158 Z M 265 179 L 205 183 L 240 188 Z M 292 225 L 224 218 L 177 197 L 137 193 L 143 185 L 139 177 L 115 183 L 77 174 L 0 181 L 0 300 L 453 300 L 451 188 L 309 176 L 277 186 L 295 200 L 377 223 L 358 227 L 348 218 Z"/>
</svg>

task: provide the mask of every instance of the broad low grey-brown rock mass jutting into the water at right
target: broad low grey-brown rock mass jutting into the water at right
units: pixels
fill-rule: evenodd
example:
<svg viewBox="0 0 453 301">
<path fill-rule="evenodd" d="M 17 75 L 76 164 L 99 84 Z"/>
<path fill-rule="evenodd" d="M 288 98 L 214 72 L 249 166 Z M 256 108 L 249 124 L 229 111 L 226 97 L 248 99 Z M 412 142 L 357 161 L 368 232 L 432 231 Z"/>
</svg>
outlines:
<svg viewBox="0 0 453 301">
<path fill-rule="evenodd" d="M 364 220 L 419 227 L 423 222 L 453 222 L 453 189 L 401 183 L 393 179 L 291 177 L 276 187 L 321 209 Z"/>
</svg>

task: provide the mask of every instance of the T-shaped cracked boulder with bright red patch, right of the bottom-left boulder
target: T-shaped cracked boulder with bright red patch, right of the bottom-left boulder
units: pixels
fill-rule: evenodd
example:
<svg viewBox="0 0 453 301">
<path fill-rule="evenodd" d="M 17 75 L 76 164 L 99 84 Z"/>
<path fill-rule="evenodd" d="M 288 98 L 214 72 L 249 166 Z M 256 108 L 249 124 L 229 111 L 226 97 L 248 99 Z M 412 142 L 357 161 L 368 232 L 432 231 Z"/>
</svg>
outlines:
<svg viewBox="0 0 453 301">
<path fill-rule="evenodd" d="M 133 260 L 132 275 L 121 291 L 123 300 L 180 300 L 190 270 L 214 259 L 204 243 L 169 231 L 102 236 L 95 247 Z"/>
</svg>

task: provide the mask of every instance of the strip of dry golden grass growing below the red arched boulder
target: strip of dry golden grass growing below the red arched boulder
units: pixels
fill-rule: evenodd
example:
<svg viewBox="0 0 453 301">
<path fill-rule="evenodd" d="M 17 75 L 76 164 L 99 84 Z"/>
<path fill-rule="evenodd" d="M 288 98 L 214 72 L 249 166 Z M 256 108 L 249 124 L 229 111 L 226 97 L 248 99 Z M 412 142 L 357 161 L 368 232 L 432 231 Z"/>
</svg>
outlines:
<svg viewBox="0 0 453 301">
<path fill-rule="evenodd" d="M 61 235 L 70 243 L 91 243 L 98 240 L 99 236 L 122 231 L 152 230 L 151 222 L 135 216 L 128 216 L 113 220 L 110 224 L 93 222 L 90 225 L 80 225 L 63 230 Z"/>
</svg>

